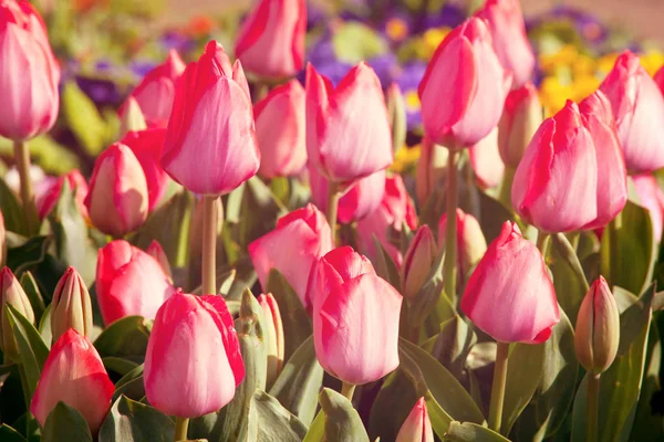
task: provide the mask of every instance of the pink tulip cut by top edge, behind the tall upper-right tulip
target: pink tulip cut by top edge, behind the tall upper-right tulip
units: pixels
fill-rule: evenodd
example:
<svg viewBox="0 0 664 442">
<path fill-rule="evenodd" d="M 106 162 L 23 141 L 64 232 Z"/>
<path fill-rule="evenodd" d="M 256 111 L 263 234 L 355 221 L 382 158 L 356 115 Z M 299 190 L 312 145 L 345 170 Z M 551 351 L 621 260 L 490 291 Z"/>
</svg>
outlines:
<svg viewBox="0 0 664 442">
<path fill-rule="evenodd" d="M 512 87 L 523 86 L 532 77 L 535 55 L 519 0 L 488 0 L 475 15 L 489 24 L 496 55 L 502 67 L 512 73 Z"/>
</svg>

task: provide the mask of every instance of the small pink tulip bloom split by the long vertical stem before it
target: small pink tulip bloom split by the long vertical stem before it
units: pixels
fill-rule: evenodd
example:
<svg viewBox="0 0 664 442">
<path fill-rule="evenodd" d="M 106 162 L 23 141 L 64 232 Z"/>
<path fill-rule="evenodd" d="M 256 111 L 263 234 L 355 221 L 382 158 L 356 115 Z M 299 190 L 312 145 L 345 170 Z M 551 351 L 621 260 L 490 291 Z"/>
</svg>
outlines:
<svg viewBox="0 0 664 442">
<path fill-rule="evenodd" d="M 461 209 L 456 211 L 457 218 L 457 266 L 459 281 L 465 281 L 468 272 L 484 256 L 487 251 L 481 227 L 475 217 L 465 213 Z M 447 229 L 447 213 L 443 213 L 438 221 L 438 249 L 445 249 L 445 231 Z"/>
</svg>

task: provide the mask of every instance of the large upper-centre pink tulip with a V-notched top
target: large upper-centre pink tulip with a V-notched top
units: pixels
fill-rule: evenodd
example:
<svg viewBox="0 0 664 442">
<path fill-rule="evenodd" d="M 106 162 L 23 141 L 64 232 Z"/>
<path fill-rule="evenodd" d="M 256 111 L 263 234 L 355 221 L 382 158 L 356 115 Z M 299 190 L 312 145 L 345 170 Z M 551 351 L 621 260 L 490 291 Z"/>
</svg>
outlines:
<svg viewBox="0 0 664 442">
<path fill-rule="evenodd" d="M 392 129 L 375 72 L 364 62 L 336 88 L 307 66 L 307 151 L 310 167 L 350 182 L 392 165 Z"/>
</svg>

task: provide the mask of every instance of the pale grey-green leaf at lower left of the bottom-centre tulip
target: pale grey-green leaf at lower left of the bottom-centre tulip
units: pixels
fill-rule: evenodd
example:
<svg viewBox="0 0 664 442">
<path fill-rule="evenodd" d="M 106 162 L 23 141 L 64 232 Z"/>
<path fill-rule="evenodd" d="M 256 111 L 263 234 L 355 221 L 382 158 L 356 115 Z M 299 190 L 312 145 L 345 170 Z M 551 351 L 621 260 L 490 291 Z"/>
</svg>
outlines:
<svg viewBox="0 0 664 442">
<path fill-rule="evenodd" d="M 323 368 L 315 357 L 313 336 L 310 336 L 288 360 L 270 388 L 270 394 L 309 425 L 315 414 L 322 385 Z"/>
</svg>

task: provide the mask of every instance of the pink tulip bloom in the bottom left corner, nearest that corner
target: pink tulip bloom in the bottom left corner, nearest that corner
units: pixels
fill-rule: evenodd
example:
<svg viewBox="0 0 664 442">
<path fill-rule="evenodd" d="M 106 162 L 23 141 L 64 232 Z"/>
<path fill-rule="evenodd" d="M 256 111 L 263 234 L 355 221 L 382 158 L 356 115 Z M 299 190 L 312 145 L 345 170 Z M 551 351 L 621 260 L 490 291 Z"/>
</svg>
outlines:
<svg viewBox="0 0 664 442">
<path fill-rule="evenodd" d="M 37 383 L 30 412 L 42 425 L 62 401 L 83 415 L 96 434 L 111 409 L 115 387 L 92 343 L 70 328 L 51 347 Z"/>
</svg>

